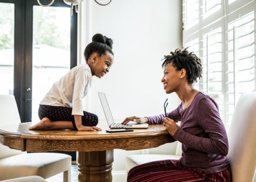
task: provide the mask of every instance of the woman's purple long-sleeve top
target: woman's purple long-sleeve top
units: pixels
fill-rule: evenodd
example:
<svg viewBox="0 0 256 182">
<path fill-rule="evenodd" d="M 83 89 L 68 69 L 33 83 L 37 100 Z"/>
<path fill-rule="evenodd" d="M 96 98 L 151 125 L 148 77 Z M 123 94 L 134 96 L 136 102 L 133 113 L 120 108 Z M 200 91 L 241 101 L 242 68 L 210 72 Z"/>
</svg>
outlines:
<svg viewBox="0 0 256 182">
<path fill-rule="evenodd" d="M 148 117 L 148 124 L 163 124 L 164 114 Z M 218 113 L 218 105 L 211 97 L 198 92 L 189 107 L 182 103 L 167 117 L 181 121 L 173 138 L 182 143 L 181 163 L 205 173 L 217 173 L 229 168 L 228 139 Z"/>
</svg>

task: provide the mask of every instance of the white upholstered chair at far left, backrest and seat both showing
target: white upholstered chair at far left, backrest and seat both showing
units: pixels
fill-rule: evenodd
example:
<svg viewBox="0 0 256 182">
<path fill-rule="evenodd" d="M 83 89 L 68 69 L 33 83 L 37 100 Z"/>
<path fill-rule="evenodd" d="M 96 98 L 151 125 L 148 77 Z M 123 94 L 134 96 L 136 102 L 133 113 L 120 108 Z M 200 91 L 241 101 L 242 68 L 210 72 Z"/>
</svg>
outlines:
<svg viewBox="0 0 256 182">
<path fill-rule="evenodd" d="M 20 123 L 13 95 L 0 95 L 0 128 Z M 26 153 L 0 144 L 0 180 L 24 176 L 47 179 L 63 173 L 63 181 L 71 182 L 71 156 L 58 153 Z"/>
</svg>

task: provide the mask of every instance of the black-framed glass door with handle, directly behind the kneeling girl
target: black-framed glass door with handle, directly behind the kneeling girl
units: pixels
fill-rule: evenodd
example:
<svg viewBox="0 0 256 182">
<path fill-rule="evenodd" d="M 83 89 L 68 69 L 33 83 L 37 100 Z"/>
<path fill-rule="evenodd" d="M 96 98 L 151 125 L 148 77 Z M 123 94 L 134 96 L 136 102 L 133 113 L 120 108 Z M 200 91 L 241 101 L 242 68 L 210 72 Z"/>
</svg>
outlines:
<svg viewBox="0 0 256 182">
<path fill-rule="evenodd" d="M 48 0 L 40 0 L 47 4 Z M 77 14 L 55 0 L 41 7 L 26 0 L 24 121 L 39 122 L 38 106 L 45 94 L 77 60 Z"/>
</svg>

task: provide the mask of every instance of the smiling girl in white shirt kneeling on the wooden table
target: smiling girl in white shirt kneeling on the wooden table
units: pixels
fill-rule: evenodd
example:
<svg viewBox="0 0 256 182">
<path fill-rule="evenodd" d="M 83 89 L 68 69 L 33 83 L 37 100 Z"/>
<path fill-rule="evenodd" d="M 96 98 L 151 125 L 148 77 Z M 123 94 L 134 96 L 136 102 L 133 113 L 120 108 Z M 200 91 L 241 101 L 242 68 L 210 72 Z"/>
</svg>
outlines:
<svg viewBox="0 0 256 182">
<path fill-rule="evenodd" d="M 83 111 L 83 98 L 92 85 L 92 77 L 103 77 L 113 65 L 113 41 L 102 34 L 95 34 L 92 40 L 84 50 L 86 63 L 72 68 L 53 84 L 38 109 L 41 122 L 29 130 L 101 130 L 96 127 L 98 117 Z"/>
</svg>

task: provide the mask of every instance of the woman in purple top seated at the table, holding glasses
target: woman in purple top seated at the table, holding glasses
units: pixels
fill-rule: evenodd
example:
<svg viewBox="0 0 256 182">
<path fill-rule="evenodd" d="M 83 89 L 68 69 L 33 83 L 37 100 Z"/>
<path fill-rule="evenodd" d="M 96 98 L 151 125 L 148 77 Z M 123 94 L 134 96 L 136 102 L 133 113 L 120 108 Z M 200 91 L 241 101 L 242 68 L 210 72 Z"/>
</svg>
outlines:
<svg viewBox="0 0 256 182">
<path fill-rule="evenodd" d="M 166 94 L 176 92 L 181 104 L 172 112 L 153 117 L 128 117 L 138 123 L 164 124 L 182 143 L 180 160 L 154 161 L 138 165 L 128 173 L 128 182 L 231 182 L 227 159 L 228 139 L 218 105 L 193 83 L 201 78 L 201 60 L 186 49 L 165 56 L 161 80 Z M 180 127 L 175 123 L 181 121 Z"/>
</svg>

